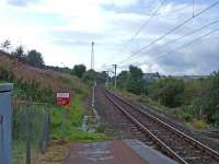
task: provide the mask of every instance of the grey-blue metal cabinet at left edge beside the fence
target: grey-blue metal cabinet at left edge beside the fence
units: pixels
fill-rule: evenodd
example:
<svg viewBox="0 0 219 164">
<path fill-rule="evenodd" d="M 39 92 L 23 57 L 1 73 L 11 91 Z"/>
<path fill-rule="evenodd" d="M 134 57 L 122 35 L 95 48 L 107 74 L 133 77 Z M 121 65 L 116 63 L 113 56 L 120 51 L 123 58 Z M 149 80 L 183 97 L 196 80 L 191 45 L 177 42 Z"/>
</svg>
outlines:
<svg viewBox="0 0 219 164">
<path fill-rule="evenodd" d="M 0 164 L 12 163 L 12 101 L 13 84 L 0 84 Z"/>
</svg>

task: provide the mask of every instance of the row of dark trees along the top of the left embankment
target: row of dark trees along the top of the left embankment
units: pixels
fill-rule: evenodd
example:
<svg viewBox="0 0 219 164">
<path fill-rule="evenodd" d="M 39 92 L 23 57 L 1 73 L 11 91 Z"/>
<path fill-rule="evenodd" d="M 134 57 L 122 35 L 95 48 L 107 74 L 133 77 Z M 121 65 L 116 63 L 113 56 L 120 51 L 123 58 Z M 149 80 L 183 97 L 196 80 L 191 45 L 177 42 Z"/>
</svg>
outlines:
<svg viewBox="0 0 219 164">
<path fill-rule="evenodd" d="M 36 68 L 50 69 L 60 73 L 70 73 L 82 79 L 83 82 L 90 85 L 93 85 L 95 81 L 104 82 L 106 77 L 105 72 L 99 73 L 92 69 L 87 70 L 87 67 L 84 65 L 76 65 L 72 69 L 68 67 L 61 68 L 46 66 L 43 59 L 43 55 L 39 51 L 32 49 L 25 52 L 24 47 L 22 45 L 18 46 L 15 49 L 9 52 L 9 49 L 12 47 L 11 42 L 9 39 L 0 44 L 0 47 L 3 51 L 8 52 L 11 58 L 15 58 L 23 63 L 27 63 Z"/>
</svg>

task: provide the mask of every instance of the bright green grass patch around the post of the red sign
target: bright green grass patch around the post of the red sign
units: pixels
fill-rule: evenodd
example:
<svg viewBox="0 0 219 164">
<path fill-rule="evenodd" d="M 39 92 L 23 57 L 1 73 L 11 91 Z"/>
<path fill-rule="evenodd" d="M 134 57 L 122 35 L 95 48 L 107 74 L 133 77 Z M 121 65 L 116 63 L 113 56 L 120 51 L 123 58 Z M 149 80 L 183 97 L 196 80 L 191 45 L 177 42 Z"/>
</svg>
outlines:
<svg viewBox="0 0 219 164">
<path fill-rule="evenodd" d="M 79 129 L 84 116 L 83 96 L 73 95 L 71 105 L 66 107 L 67 121 L 65 140 L 94 142 L 110 139 L 103 132 L 89 133 Z M 64 107 L 62 107 L 64 108 Z M 61 107 L 54 107 L 51 110 L 51 139 L 61 140 Z"/>
</svg>

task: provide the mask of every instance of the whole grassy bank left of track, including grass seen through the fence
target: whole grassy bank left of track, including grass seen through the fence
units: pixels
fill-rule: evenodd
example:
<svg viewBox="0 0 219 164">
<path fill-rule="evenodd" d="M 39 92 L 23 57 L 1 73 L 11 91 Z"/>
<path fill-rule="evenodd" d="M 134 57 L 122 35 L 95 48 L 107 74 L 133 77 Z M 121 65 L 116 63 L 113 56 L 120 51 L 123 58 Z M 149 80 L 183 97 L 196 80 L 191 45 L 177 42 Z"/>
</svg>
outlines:
<svg viewBox="0 0 219 164">
<path fill-rule="evenodd" d="M 32 153 L 39 151 L 44 107 L 50 110 L 51 139 L 61 139 L 61 107 L 56 105 L 56 92 L 68 91 L 72 95 L 71 105 L 67 107 L 66 140 L 69 142 L 91 142 L 106 139 L 104 133 L 88 133 L 79 129 L 85 113 L 83 101 L 90 92 L 89 86 L 82 83 L 80 79 L 53 70 L 33 68 L 0 52 L 0 83 L 5 82 L 14 84 L 13 163 L 22 164 L 25 160 L 25 116 L 27 109 L 31 112 L 28 118 L 31 118 L 32 126 Z M 31 105 L 32 103 L 39 103 L 41 105 Z"/>
</svg>

